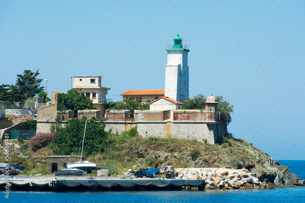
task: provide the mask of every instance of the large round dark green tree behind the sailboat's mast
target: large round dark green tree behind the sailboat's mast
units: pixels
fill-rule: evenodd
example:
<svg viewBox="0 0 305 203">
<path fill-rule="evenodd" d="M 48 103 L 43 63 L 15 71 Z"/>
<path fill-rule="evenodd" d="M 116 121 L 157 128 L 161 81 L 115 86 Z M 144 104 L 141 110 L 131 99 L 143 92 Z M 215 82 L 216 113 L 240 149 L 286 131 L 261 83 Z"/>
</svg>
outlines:
<svg viewBox="0 0 305 203">
<path fill-rule="evenodd" d="M 56 131 L 51 143 L 52 150 L 59 155 L 81 155 L 86 117 L 70 119 L 63 128 Z M 103 121 L 98 122 L 95 117 L 87 121 L 84 140 L 84 155 L 97 154 L 105 149 L 106 138 L 111 130 L 105 131 Z"/>
</svg>

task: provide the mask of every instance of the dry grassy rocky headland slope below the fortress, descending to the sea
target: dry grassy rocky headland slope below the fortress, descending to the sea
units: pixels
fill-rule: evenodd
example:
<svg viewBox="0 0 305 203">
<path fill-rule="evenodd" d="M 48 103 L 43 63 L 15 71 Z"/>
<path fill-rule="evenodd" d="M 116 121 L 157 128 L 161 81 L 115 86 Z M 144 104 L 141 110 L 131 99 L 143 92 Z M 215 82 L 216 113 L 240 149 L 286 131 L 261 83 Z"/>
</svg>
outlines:
<svg viewBox="0 0 305 203">
<path fill-rule="evenodd" d="M 291 185 L 300 180 L 298 176 L 286 170 L 288 167 L 279 166 L 277 160 L 272 161 L 267 153 L 242 139 L 231 139 L 230 145 L 228 143 L 210 145 L 189 140 L 158 141 L 158 139 L 150 143 L 128 142 L 127 140 L 124 145 L 130 149 L 126 154 L 138 162 L 143 162 L 147 155 L 152 155 L 159 165 L 166 163 L 174 167 L 177 166 L 177 168 L 187 165 L 187 167 L 194 168 L 229 166 L 231 169 L 247 169 L 256 174 L 256 178 L 261 183 L 267 183 L 271 186 Z M 200 154 L 192 158 L 190 153 L 195 147 L 199 149 Z M 226 176 L 228 175 L 230 178 L 235 177 L 234 174 Z M 224 183 L 224 187 L 225 184 L 231 187 L 230 183 Z M 249 187 L 252 186 L 249 185 Z"/>
</svg>

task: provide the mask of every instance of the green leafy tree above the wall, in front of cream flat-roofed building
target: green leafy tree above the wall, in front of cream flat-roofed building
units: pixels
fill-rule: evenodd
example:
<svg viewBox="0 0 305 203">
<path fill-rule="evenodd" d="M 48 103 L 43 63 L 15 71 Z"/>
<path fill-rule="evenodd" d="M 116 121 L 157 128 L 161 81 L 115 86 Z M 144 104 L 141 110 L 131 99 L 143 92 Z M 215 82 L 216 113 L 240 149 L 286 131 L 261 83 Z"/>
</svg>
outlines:
<svg viewBox="0 0 305 203">
<path fill-rule="evenodd" d="M 70 89 L 66 94 L 60 96 L 60 103 L 57 108 L 59 111 L 96 109 L 93 107 L 93 101 L 86 98 L 84 92 L 78 92 L 75 89 Z"/>
</svg>

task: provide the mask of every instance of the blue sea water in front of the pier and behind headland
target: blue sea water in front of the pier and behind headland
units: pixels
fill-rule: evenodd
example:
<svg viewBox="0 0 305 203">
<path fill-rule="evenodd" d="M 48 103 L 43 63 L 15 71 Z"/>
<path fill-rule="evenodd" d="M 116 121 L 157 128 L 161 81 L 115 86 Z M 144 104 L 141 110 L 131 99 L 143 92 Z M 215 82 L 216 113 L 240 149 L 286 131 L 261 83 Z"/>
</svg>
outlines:
<svg viewBox="0 0 305 203">
<path fill-rule="evenodd" d="M 305 161 L 279 161 L 280 165 L 290 166 L 290 172 L 295 172 L 300 178 L 304 177 Z M 302 178 L 303 179 L 303 178 Z M 111 203 L 145 203 L 145 202 L 305 202 L 305 187 L 283 187 L 270 189 L 248 190 L 205 190 L 205 191 L 101 191 L 101 192 L 17 192 L 11 191 L 9 199 L 4 198 L 4 192 L 0 202 L 32 203 L 32 202 L 111 202 Z"/>
</svg>

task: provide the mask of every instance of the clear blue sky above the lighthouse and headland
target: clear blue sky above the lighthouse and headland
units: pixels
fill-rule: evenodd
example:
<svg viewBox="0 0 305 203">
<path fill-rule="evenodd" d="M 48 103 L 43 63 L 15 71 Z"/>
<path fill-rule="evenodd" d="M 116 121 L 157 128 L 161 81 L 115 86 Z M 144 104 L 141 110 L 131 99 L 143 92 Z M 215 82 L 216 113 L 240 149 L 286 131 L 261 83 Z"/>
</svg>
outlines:
<svg viewBox="0 0 305 203">
<path fill-rule="evenodd" d="M 274 159 L 305 159 L 304 147 L 288 144 L 305 146 L 296 137 L 305 137 L 304 1 L 2 0 L 0 8 L 1 84 L 40 68 L 48 92 L 70 89 L 70 75 L 101 75 L 114 101 L 127 89 L 164 89 L 166 44 L 179 30 L 190 45 L 190 96 L 222 95 L 232 118 L 251 125 L 239 124 L 287 143 L 232 122 L 236 138 Z"/>
</svg>

